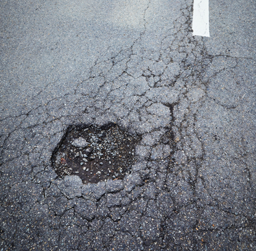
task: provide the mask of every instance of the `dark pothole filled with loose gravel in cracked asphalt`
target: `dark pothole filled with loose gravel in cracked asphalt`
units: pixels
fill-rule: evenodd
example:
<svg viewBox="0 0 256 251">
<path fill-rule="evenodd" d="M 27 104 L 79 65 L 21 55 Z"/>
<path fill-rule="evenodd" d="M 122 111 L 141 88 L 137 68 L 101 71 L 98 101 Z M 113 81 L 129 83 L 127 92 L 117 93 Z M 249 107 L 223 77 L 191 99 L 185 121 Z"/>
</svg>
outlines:
<svg viewBox="0 0 256 251">
<path fill-rule="evenodd" d="M 136 162 L 140 140 L 115 124 L 69 127 L 52 154 L 52 165 L 59 177 L 77 175 L 83 183 L 123 179 Z"/>
</svg>

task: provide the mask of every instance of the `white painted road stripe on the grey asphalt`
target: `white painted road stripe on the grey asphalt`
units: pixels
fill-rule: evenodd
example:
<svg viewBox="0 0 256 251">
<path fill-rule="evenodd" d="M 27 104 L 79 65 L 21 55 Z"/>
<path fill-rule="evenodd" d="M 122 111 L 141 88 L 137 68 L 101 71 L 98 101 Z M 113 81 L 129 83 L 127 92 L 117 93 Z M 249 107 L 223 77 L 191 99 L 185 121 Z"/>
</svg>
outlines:
<svg viewBox="0 0 256 251">
<path fill-rule="evenodd" d="M 209 0 L 194 0 L 192 30 L 193 36 L 210 36 Z"/>
</svg>

